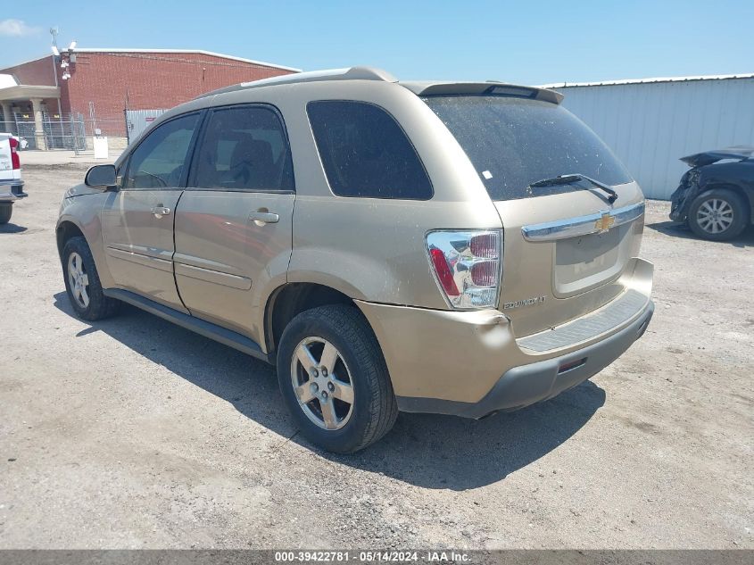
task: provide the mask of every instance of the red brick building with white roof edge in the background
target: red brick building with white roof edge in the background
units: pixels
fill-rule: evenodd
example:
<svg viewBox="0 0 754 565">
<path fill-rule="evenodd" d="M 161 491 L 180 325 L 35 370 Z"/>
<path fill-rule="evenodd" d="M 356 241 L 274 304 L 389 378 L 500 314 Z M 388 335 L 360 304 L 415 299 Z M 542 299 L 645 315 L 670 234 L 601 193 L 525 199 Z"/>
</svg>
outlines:
<svg viewBox="0 0 754 565">
<path fill-rule="evenodd" d="M 198 50 L 64 50 L 0 70 L 0 126 L 27 138 L 31 131 L 29 141 L 40 149 L 68 143 L 71 116 L 85 137 L 96 127 L 125 138 L 126 109 L 167 109 L 216 88 L 297 71 Z"/>
</svg>

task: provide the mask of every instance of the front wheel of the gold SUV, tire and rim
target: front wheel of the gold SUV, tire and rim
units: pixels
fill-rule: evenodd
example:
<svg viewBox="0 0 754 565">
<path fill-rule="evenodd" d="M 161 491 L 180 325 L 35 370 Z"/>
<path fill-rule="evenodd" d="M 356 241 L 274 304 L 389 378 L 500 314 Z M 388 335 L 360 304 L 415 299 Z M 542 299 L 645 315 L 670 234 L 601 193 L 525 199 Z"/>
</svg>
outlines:
<svg viewBox="0 0 754 565">
<path fill-rule="evenodd" d="M 83 237 L 71 237 L 63 246 L 62 278 L 70 305 L 82 320 L 103 320 L 117 312 L 120 302 L 104 295 L 95 259 Z"/>
</svg>

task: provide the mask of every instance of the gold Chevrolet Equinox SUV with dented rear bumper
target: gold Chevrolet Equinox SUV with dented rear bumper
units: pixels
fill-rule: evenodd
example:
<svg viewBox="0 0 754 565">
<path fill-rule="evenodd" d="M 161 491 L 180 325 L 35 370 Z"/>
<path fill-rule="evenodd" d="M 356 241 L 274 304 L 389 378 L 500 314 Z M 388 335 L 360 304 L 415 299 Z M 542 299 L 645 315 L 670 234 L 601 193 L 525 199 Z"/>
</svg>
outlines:
<svg viewBox="0 0 754 565">
<path fill-rule="evenodd" d="M 131 303 L 276 364 L 302 434 L 335 452 L 399 410 L 551 398 L 654 309 L 642 191 L 561 99 L 355 67 L 182 104 L 63 198 L 70 303 Z"/>
</svg>

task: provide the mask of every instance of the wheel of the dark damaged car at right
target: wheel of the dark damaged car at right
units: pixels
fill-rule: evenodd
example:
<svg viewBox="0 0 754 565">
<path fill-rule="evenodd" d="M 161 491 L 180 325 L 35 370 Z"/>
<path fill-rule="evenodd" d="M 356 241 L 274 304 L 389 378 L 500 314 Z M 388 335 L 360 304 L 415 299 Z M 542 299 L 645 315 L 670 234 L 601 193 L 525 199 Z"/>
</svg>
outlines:
<svg viewBox="0 0 754 565">
<path fill-rule="evenodd" d="M 699 237 L 727 241 L 741 235 L 749 224 L 749 210 L 742 195 L 713 188 L 694 198 L 689 207 L 689 228 Z"/>
</svg>

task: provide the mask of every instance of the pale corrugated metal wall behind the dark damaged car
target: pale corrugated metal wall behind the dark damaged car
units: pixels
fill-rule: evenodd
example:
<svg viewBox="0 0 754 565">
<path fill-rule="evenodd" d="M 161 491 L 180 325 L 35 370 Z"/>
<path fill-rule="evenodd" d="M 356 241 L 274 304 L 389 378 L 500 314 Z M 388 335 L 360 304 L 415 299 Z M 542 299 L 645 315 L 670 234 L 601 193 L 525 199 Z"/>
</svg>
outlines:
<svg viewBox="0 0 754 565">
<path fill-rule="evenodd" d="M 650 198 L 669 198 L 680 157 L 754 145 L 754 79 L 559 87 L 563 105 L 617 154 Z"/>
</svg>

